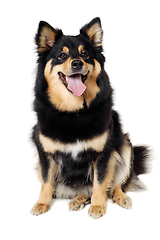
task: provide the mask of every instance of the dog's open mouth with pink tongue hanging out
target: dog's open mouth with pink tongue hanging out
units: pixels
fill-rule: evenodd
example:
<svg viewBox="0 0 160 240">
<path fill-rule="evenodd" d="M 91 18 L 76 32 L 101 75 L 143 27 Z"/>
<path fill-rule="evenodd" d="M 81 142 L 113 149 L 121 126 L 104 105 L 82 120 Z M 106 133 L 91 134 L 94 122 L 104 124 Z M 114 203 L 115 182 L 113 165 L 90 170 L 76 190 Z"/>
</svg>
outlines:
<svg viewBox="0 0 160 240">
<path fill-rule="evenodd" d="M 86 90 L 84 82 L 87 78 L 87 74 L 73 74 L 71 76 L 67 76 L 62 72 L 59 72 L 58 74 L 63 84 L 76 96 L 81 96 Z"/>
</svg>

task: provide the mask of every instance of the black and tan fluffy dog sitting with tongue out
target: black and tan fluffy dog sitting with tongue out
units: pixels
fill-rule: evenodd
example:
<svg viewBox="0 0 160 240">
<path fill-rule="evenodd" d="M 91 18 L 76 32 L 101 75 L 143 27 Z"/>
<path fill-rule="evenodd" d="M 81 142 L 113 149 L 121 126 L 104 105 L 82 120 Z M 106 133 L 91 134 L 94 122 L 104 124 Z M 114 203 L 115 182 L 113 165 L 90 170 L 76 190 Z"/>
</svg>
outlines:
<svg viewBox="0 0 160 240">
<path fill-rule="evenodd" d="M 72 211 L 91 203 L 89 215 L 97 219 L 108 199 L 130 209 L 126 192 L 143 188 L 138 175 L 147 172 L 148 148 L 132 146 L 122 132 L 102 38 L 98 17 L 77 36 L 39 23 L 32 140 L 42 188 L 33 215 L 47 212 L 53 198 L 68 198 Z"/>
</svg>

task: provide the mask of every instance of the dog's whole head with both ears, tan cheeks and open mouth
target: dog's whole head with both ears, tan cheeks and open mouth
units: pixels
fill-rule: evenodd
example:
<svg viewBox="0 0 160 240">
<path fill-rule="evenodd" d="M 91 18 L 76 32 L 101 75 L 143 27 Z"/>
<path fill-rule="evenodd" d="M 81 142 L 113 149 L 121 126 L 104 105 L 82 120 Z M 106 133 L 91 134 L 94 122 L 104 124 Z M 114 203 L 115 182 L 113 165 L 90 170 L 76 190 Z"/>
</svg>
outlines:
<svg viewBox="0 0 160 240">
<path fill-rule="evenodd" d="M 85 25 L 78 36 L 65 36 L 40 22 L 36 43 L 50 102 L 61 111 L 82 109 L 84 101 L 89 106 L 100 91 L 97 79 L 104 64 L 100 19 Z"/>
</svg>

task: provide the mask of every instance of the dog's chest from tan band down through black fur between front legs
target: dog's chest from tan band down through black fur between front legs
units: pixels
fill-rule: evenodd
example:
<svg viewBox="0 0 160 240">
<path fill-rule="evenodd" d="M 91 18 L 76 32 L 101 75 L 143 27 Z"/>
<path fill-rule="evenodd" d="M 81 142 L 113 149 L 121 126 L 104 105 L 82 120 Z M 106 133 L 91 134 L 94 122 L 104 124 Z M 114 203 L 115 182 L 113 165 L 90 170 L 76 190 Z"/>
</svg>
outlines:
<svg viewBox="0 0 160 240">
<path fill-rule="evenodd" d="M 39 138 L 44 151 L 59 165 L 58 182 L 74 188 L 91 185 L 93 163 L 103 152 L 108 132 L 74 143 L 62 143 L 42 134 Z"/>
</svg>

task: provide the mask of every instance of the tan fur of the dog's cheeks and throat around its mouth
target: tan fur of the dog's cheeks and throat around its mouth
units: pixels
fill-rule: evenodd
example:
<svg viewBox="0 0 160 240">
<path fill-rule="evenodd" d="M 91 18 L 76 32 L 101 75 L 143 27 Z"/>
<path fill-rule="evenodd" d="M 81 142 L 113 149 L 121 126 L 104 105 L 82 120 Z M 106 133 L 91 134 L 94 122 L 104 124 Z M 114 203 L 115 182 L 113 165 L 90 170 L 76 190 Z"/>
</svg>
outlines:
<svg viewBox="0 0 160 240">
<path fill-rule="evenodd" d="M 95 67 L 90 64 L 86 64 L 84 61 L 83 74 L 88 73 L 88 77 L 85 81 L 86 91 L 82 96 L 75 96 L 70 93 L 66 86 L 59 79 L 58 72 L 62 72 L 65 75 L 71 75 L 71 59 L 67 59 L 64 64 L 51 67 L 50 60 L 45 67 L 45 78 L 48 83 L 48 95 L 51 103 L 60 111 L 77 111 L 83 108 L 84 98 L 89 106 L 91 101 L 96 97 L 100 91 L 96 80 L 101 72 L 100 64 L 95 61 Z"/>
</svg>

